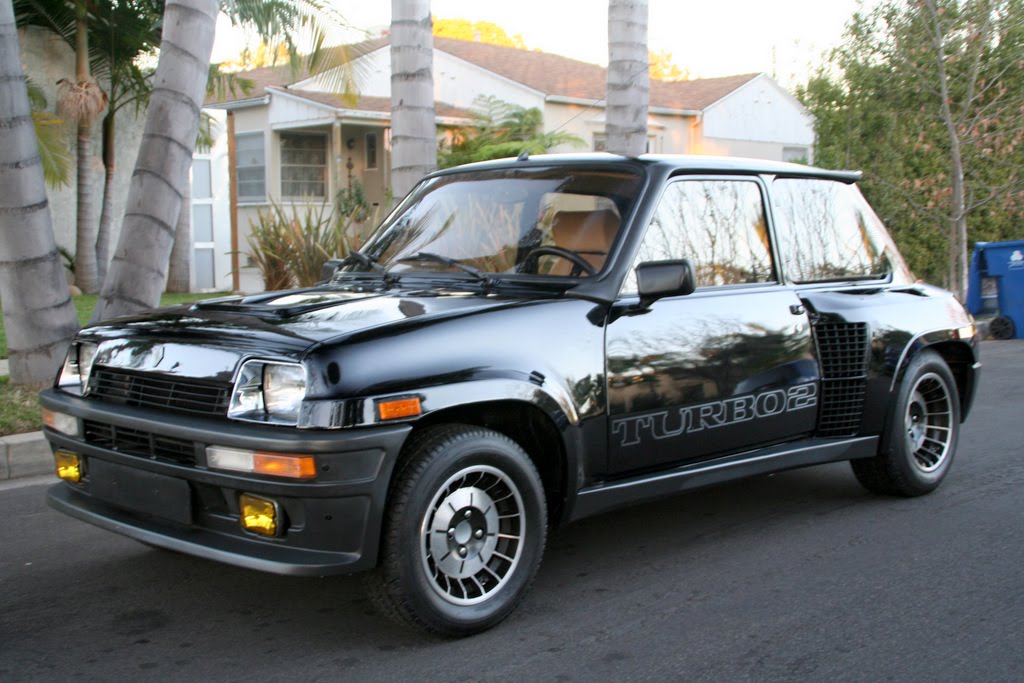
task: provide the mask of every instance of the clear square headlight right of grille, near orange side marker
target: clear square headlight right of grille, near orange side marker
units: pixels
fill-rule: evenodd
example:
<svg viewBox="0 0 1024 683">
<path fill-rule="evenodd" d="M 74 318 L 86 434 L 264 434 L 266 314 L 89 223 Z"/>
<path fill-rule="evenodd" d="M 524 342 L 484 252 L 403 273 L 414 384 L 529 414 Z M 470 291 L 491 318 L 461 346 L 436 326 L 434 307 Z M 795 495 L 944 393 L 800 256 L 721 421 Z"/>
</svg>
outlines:
<svg viewBox="0 0 1024 683">
<path fill-rule="evenodd" d="M 306 395 L 306 371 L 297 364 L 247 360 L 239 371 L 227 417 L 294 425 Z"/>
</svg>

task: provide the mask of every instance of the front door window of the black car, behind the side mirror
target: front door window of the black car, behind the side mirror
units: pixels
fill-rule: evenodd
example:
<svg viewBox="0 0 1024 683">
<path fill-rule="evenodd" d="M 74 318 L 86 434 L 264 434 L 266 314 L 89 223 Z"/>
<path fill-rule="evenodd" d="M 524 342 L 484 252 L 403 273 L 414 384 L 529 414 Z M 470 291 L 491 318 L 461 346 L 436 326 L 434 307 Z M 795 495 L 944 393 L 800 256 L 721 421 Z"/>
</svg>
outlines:
<svg viewBox="0 0 1024 683">
<path fill-rule="evenodd" d="M 750 180 L 682 180 L 669 185 L 644 233 L 636 266 L 687 258 L 697 287 L 775 282 L 761 189 Z"/>
</svg>

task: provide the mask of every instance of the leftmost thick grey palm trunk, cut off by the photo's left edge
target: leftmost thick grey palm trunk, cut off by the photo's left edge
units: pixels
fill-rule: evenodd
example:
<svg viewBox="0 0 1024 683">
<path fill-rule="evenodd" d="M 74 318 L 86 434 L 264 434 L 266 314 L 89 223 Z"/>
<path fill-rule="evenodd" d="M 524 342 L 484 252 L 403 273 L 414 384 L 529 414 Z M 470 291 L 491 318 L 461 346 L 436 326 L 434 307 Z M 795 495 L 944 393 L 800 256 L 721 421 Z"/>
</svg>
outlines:
<svg viewBox="0 0 1024 683">
<path fill-rule="evenodd" d="M 0 0 L 0 296 L 11 381 L 52 380 L 78 319 L 53 239 L 10 0 Z"/>
</svg>

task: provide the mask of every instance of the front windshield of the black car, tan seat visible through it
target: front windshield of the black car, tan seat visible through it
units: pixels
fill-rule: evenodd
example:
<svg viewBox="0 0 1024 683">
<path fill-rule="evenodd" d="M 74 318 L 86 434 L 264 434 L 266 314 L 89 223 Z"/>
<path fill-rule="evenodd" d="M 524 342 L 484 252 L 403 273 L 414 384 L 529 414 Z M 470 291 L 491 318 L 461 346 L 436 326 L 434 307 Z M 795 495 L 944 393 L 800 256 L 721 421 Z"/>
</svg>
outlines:
<svg viewBox="0 0 1024 683">
<path fill-rule="evenodd" d="M 422 182 L 361 250 L 388 272 L 586 278 L 598 272 L 640 187 L 633 170 L 468 171 Z M 346 270 L 365 270 L 351 262 Z"/>
</svg>

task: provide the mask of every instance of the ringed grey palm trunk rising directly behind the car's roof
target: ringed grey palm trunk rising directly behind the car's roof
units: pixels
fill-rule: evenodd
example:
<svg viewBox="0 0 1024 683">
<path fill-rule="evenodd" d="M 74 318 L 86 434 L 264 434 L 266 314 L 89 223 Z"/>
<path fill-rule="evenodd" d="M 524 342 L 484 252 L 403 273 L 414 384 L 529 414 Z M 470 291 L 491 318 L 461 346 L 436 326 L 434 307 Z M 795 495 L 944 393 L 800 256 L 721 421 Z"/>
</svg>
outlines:
<svg viewBox="0 0 1024 683">
<path fill-rule="evenodd" d="M 647 0 L 608 0 L 607 150 L 637 157 L 647 151 Z"/>
</svg>

